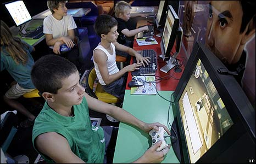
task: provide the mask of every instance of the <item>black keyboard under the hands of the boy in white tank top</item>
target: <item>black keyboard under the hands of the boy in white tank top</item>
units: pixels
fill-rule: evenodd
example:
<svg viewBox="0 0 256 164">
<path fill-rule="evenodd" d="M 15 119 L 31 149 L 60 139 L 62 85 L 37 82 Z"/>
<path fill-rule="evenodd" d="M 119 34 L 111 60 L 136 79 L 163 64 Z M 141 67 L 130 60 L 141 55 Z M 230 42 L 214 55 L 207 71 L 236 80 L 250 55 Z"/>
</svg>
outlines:
<svg viewBox="0 0 256 164">
<path fill-rule="evenodd" d="M 140 69 L 131 72 L 132 75 L 155 75 L 155 70 L 157 69 L 157 53 L 154 50 L 141 50 L 141 55 L 143 57 L 150 57 L 151 63 L 141 66 Z M 136 63 L 136 58 L 133 57 L 133 63 Z"/>
</svg>

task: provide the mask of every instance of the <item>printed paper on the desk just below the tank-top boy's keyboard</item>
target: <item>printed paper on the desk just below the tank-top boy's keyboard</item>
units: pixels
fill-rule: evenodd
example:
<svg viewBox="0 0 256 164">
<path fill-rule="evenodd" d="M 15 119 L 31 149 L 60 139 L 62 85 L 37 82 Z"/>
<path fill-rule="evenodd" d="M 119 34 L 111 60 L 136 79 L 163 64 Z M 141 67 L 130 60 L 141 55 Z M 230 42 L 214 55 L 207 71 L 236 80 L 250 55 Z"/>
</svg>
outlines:
<svg viewBox="0 0 256 164">
<path fill-rule="evenodd" d="M 133 76 L 132 78 L 138 81 L 153 81 L 153 83 L 144 83 L 142 86 L 131 87 L 131 95 L 157 95 L 154 76 Z"/>
</svg>

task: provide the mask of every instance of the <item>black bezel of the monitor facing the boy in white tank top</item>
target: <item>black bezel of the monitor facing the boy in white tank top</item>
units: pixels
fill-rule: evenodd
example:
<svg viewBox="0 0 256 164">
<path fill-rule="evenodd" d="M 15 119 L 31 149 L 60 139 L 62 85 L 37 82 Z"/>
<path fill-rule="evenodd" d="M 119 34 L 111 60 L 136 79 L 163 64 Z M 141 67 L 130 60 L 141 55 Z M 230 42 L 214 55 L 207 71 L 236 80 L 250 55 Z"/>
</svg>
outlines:
<svg viewBox="0 0 256 164">
<path fill-rule="evenodd" d="M 178 29 L 179 29 L 179 16 L 177 16 L 176 12 L 174 11 L 174 9 L 172 8 L 171 5 L 168 5 L 168 11 L 171 11 L 171 15 L 174 17 L 174 24 L 172 25 L 172 30 L 171 30 L 171 36 L 169 38 L 169 42 L 167 44 L 167 49 L 165 51 L 165 46 L 164 46 L 164 31 L 163 31 L 163 36 L 161 38 L 161 42 L 160 42 L 160 46 L 161 46 L 161 51 L 162 51 L 162 55 L 163 55 L 163 60 L 164 61 L 168 61 L 171 57 L 171 50 L 174 46 L 174 43 L 175 43 L 175 39 L 176 39 L 176 36 L 177 36 L 177 32 L 178 32 Z M 167 14 L 168 14 L 168 11 L 167 11 Z M 166 22 L 167 22 L 167 17 L 166 17 L 166 20 L 165 20 L 165 24 L 164 24 L 164 27 L 166 25 Z"/>
</svg>

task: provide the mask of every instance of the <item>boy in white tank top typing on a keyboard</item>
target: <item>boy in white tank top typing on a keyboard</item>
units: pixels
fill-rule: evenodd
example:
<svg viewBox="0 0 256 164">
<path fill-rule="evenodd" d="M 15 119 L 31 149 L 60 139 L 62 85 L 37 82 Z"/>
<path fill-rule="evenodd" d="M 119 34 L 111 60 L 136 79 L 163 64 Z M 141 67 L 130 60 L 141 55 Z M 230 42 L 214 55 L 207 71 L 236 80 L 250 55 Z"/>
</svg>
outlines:
<svg viewBox="0 0 256 164">
<path fill-rule="evenodd" d="M 147 57 L 142 57 L 135 50 L 116 42 L 118 38 L 118 22 L 110 15 L 99 15 L 94 30 L 101 37 L 101 43 L 93 51 L 93 63 L 99 83 L 108 92 L 123 101 L 127 72 L 135 71 L 140 66 L 148 65 Z M 119 71 L 115 62 L 115 49 L 135 56 L 137 63 L 128 65 Z"/>
</svg>

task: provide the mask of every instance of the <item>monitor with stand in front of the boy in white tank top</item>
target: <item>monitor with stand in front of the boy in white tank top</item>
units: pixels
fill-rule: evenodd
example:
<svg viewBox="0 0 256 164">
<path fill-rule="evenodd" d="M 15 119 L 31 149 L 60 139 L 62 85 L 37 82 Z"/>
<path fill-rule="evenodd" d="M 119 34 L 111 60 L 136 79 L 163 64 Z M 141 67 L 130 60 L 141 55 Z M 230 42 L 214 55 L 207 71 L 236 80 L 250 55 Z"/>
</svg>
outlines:
<svg viewBox="0 0 256 164">
<path fill-rule="evenodd" d="M 182 39 L 182 28 L 179 28 L 179 17 L 175 13 L 171 5 L 168 5 L 167 17 L 164 25 L 163 36 L 160 42 L 162 58 L 167 61 L 166 66 L 160 68 L 160 71 L 167 73 L 171 68 L 176 66 L 176 57 L 180 52 L 180 45 Z M 176 52 L 172 52 L 176 40 Z"/>
</svg>

